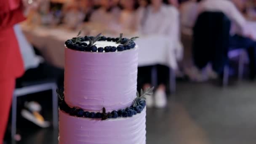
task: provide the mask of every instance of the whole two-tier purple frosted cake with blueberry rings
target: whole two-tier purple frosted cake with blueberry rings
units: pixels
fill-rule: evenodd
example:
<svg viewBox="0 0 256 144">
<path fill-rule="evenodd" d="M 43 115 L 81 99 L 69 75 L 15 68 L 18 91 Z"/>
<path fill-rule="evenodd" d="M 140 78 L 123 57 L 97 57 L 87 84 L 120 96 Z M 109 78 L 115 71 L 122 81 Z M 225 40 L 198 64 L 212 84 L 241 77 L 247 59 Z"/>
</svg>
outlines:
<svg viewBox="0 0 256 144">
<path fill-rule="evenodd" d="M 142 95 L 151 90 L 136 93 L 136 38 L 97 35 L 66 41 L 59 144 L 146 143 Z"/>
</svg>

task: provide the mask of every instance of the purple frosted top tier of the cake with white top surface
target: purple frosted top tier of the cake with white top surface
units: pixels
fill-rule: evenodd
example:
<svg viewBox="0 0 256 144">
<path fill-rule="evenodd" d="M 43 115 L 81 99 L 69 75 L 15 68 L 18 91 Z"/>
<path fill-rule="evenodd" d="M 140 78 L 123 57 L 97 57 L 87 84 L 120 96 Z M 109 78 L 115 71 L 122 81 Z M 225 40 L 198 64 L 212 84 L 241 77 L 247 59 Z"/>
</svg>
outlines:
<svg viewBox="0 0 256 144">
<path fill-rule="evenodd" d="M 97 41 L 97 47 L 117 46 Z M 136 98 L 138 48 L 115 52 L 86 52 L 65 48 L 65 101 L 87 111 L 130 107 Z"/>
</svg>

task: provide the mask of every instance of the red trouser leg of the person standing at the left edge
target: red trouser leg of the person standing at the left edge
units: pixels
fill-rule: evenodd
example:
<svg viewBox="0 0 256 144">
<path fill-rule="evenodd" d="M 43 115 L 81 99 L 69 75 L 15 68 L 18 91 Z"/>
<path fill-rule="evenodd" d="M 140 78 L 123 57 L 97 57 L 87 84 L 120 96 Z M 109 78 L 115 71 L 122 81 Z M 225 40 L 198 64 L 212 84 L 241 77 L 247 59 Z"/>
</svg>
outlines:
<svg viewBox="0 0 256 144">
<path fill-rule="evenodd" d="M 15 86 L 15 79 L 8 79 L 0 81 L 0 144 L 3 142 L 5 130 L 8 123 L 9 111 L 11 108 L 11 101 L 13 97 L 13 90 Z"/>
</svg>

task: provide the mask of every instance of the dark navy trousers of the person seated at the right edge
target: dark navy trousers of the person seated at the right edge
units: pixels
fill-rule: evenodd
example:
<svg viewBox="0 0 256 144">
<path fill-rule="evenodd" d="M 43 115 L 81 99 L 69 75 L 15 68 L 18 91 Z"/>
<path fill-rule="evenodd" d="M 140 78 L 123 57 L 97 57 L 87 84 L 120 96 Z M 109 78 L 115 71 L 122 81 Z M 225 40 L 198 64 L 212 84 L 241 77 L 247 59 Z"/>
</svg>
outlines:
<svg viewBox="0 0 256 144">
<path fill-rule="evenodd" d="M 245 48 L 247 50 L 249 57 L 250 78 L 254 79 L 256 75 L 256 41 L 251 40 L 248 37 L 234 35 L 230 37 L 229 43 L 233 49 Z"/>
</svg>

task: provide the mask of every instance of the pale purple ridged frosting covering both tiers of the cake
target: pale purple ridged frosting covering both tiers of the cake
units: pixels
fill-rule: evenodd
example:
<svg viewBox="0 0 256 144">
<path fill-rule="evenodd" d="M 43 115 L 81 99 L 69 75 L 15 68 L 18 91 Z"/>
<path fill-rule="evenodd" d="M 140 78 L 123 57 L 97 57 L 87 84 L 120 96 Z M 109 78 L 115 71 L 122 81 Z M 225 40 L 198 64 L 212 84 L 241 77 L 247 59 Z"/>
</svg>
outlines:
<svg viewBox="0 0 256 144">
<path fill-rule="evenodd" d="M 98 47 L 117 46 L 96 42 Z M 108 53 L 65 48 L 65 101 L 85 111 L 107 112 L 133 104 L 137 88 L 138 48 Z M 146 109 L 116 119 L 71 116 L 59 110 L 59 144 L 145 144 Z"/>
</svg>

